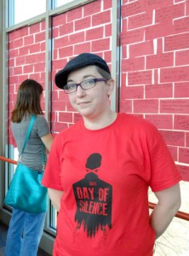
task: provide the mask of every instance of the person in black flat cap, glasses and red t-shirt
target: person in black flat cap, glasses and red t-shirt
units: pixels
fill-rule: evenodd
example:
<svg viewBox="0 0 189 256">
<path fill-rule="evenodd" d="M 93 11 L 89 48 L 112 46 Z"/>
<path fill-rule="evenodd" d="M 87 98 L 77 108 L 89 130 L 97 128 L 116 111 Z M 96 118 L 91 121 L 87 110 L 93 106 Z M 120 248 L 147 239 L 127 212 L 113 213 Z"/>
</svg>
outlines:
<svg viewBox="0 0 189 256">
<path fill-rule="evenodd" d="M 180 174 L 158 129 L 115 113 L 110 69 L 77 55 L 55 75 L 83 117 L 54 138 L 43 185 L 59 212 L 54 256 L 152 256 L 180 207 Z M 149 213 L 148 189 L 158 198 Z"/>
</svg>

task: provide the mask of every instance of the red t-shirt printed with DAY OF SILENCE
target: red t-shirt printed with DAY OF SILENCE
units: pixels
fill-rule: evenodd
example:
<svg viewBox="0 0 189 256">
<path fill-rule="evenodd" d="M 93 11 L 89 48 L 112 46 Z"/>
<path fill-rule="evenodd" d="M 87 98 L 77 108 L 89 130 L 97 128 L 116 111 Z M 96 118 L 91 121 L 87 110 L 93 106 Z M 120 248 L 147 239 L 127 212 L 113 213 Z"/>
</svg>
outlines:
<svg viewBox="0 0 189 256">
<path fill-rule="evenodd" d="M 54 139 L 43 185 L 64 191 L 54 256 L 152 256 L 148 188 L 180 181 L 154 125 L 118 113 L 112 125 L 83 121 Z"/>
</svg>

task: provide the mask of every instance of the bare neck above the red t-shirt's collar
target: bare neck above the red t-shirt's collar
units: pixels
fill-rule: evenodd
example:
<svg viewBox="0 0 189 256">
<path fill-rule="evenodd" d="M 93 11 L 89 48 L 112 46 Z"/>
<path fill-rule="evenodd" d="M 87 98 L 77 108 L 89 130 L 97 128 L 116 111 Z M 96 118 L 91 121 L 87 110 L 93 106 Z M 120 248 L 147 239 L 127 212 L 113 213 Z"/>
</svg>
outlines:
<svg viewBox="0 0 189 256">
<path fill-rule="evenodd" d="M 89 130 L 98 130 L 111 125 L 117 119 L 117 113 L 112 110 L 93 119 L 84 118 L 84 126 Z"/>
</svg>

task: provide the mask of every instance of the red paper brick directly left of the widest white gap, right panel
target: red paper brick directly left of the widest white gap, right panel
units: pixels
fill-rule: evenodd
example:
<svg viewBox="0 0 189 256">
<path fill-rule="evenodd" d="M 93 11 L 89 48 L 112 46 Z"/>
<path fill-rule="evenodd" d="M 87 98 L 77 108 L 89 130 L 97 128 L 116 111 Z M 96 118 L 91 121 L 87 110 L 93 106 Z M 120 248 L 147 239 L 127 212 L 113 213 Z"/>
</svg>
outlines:
<svg viewBox="0 0 189 256">
<path fill-rule="evenodd" d="M 138 44 L 129 45 L 129 57 L 152 55 L 153 54 L 153 42 L 146 41 Z"/>
</svg>

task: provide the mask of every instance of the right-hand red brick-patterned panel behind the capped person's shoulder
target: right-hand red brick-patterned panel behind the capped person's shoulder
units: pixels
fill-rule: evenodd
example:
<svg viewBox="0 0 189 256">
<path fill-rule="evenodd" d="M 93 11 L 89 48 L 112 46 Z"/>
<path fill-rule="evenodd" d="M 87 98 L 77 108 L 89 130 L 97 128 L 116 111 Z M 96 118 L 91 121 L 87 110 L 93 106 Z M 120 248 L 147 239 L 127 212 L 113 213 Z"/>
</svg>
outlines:
<svg viewBox="0 0 189 256">
<path fill-rule="evenodd" d="M 123 1 L 120 112 L 163 134 L 189 181 L 189 3 Z"/>
</svg>

